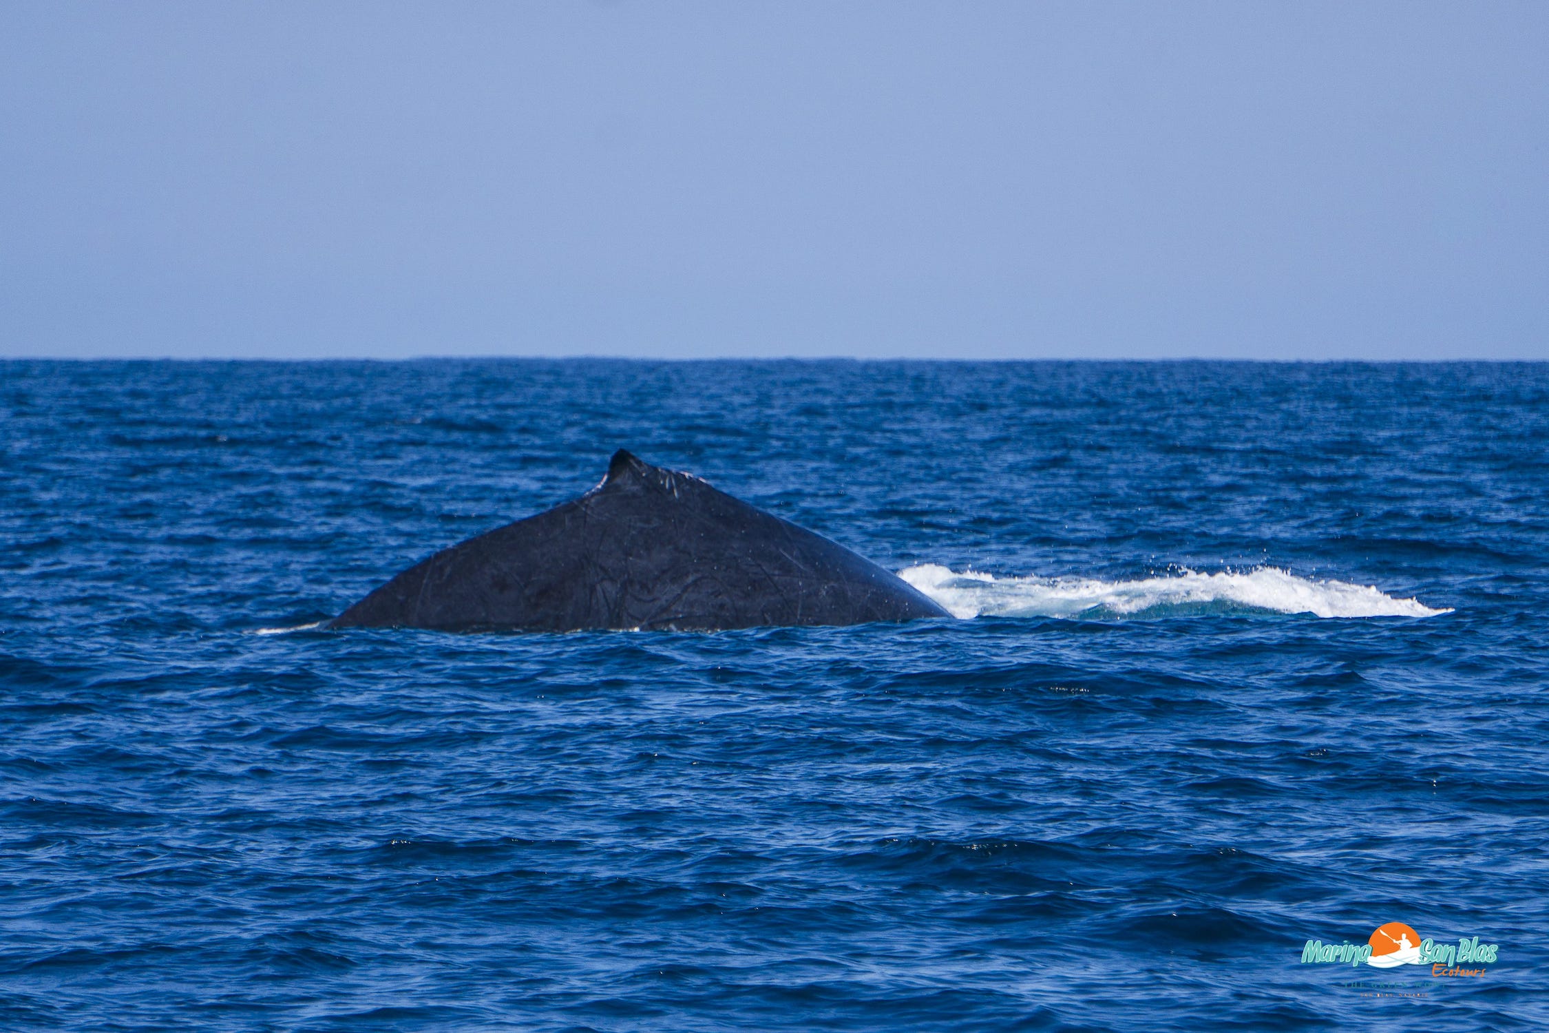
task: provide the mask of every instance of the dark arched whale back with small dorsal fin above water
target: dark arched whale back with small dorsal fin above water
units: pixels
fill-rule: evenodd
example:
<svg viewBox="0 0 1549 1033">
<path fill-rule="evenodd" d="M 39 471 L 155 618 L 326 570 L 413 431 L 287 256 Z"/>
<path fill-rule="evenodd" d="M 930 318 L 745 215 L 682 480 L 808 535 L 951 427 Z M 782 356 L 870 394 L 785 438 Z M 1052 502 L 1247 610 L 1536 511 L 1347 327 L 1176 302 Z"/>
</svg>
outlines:
<svg viewBox="0 0 1549 1033">
<path fill-rule="evenodd" d="M 716 632 L 950 616 L 838 542 L 620 449 L 581 497 L 435 553 L 327 627 Z"/>
</svg>

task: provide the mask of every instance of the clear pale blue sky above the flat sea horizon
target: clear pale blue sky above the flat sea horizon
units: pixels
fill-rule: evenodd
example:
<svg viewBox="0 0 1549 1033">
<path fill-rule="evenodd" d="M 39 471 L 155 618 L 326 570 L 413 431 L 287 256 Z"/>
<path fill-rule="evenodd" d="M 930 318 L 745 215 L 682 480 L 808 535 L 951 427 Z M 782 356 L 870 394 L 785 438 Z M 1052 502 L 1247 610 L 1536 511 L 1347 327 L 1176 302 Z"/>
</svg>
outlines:
<svg viewBox="0 0 1549 1033">
<path fill-rule="evenodd" d="M 1549 3 L 0 3 L 0 355 L 1549 358 Z"/>
</svg>

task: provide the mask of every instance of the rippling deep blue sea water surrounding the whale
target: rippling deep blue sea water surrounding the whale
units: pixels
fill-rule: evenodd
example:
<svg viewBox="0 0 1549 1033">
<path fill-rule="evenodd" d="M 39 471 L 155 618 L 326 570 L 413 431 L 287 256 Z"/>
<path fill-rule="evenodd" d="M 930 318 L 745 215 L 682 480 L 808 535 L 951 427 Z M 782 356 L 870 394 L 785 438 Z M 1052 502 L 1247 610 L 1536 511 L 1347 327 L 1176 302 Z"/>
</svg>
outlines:
<svg viewBox="0 0 1549 1033">
<path fill-rule="evenodd" d="M 6 1030 L 1544 1028 L 1549 365 L 0 364 Z M 308 627 L 629 448 L 960 619 Z M 1303 963 L 1388 921 L 1482 976 Z"/>
</svg>

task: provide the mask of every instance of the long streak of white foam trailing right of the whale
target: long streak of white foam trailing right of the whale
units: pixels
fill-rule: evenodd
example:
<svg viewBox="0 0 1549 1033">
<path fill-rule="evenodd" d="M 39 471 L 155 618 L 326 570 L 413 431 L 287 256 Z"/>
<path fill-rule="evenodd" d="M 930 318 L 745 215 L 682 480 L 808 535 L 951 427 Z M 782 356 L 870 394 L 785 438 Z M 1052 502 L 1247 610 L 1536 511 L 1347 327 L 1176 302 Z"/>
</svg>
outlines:
<svg viewBox="0 0 1549 1033">
<path fill-rule="evenodd" d="M 1163 616 L 1200 610 L 1269 610 L 1317 616 L 1436 616 L 1417 599 L 1396 599 L 1372 585 L 1310 581 L 1276 567 L 1202 575 L 1180 570 L 1165 578 L 996 578 L 953 573 L 937 564 L 898 576 L 936 599 L 953 616 Z"/>
</svg>

